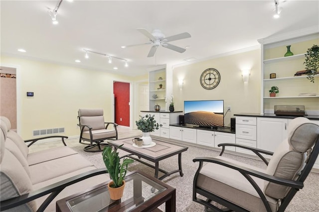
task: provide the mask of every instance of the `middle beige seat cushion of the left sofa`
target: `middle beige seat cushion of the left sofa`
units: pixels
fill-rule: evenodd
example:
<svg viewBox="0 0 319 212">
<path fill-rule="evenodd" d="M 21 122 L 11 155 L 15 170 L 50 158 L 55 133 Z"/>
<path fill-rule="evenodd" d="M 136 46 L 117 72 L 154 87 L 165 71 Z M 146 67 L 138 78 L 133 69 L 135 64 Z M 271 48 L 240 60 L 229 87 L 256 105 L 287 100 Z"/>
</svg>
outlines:
<svg viewBox="0 0 319 212">
<path fill-rule="evenodd" d="M 29 166 L 30 178 L 32 184 L 37 184 L 90 166 L 93 164 L 81 155 L 68 155 Z"/>
</svg>

